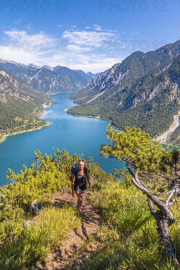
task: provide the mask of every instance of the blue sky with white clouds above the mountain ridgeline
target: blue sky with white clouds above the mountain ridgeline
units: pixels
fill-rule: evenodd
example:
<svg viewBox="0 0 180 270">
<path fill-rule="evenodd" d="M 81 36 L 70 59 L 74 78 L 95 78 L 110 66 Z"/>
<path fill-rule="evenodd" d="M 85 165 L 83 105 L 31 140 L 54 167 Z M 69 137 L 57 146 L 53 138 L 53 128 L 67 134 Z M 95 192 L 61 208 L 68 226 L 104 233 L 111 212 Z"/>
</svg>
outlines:
<svg viewBox="0 0 180 270">
<path fill-rule="evenodd" d="M 0 57 L 100 72 L 180 39 L 179 0 L 1 0 Z"/>
</svg>

